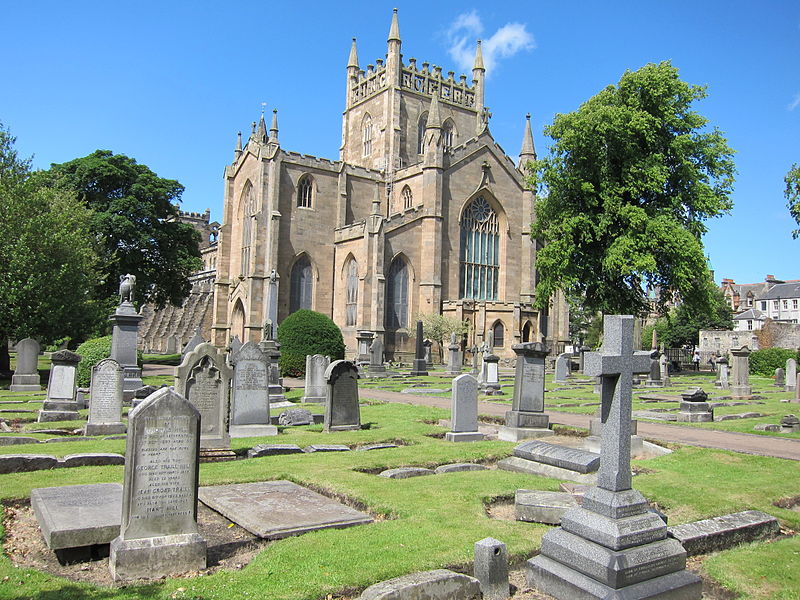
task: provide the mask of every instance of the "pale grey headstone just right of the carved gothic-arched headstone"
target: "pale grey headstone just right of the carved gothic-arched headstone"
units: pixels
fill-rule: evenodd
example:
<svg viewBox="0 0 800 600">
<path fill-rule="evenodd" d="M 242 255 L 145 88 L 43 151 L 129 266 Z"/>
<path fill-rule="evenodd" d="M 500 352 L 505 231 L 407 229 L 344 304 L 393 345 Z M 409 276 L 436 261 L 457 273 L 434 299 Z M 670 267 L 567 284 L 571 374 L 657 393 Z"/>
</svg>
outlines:
<svg viewBox="0 0 800 600">
<path fill-rule="evenodd" d="M 233 386 L 228 433 L 231 437 L 278 435 L 269 419 L 269 358 L 257 344 L 247 342 L 231 354 L 230 363 Z"/>
</svg>

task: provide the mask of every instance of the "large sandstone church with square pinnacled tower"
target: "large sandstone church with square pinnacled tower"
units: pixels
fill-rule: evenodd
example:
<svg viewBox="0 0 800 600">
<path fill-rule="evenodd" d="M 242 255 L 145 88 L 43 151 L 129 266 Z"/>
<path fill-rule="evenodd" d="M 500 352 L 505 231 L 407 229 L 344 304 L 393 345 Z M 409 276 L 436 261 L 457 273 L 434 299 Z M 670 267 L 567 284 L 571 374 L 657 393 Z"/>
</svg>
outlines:
<svg viewBox="0 0 800 600">
<path fill-rule="evenodd" d="M 339 325 L 348 354 L 368 330 L 388 357 L 408 358 L 414 321 L 431 312 L 468 321 L 468 346 L 493 331 L 501 356 L 522 341 L 563 347 L 563 298 L 546 314 L 532 306 L 530 119 L 515 165 L 489 131 L 480 42 L 469 81 L 404 63 L 396 10 L 387 44 L 365 71 L 353 40 L 339 160 L 281 148 L 277 111 L 244 145 L 240 134 L 225 169 L 213 342 L 260 340 L 268 315 L 309 308 Z"/>
</svg>

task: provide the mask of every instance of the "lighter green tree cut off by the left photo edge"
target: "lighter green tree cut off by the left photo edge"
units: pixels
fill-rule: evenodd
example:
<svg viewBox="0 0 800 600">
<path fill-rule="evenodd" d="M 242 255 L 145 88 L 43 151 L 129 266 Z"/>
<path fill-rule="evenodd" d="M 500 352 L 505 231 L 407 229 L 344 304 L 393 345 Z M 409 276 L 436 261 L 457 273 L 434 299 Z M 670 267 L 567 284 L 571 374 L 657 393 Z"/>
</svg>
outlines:
<svg viewBox="0 0 800 600">
<path fill-rule="evenodd" d="M 91 212 L 68 189 L 38 185 L 0 125 L 0 348 L 82 337 L 96 310 Z M 0 356 L 0 370 L 7 359 Z"/>
</svg>

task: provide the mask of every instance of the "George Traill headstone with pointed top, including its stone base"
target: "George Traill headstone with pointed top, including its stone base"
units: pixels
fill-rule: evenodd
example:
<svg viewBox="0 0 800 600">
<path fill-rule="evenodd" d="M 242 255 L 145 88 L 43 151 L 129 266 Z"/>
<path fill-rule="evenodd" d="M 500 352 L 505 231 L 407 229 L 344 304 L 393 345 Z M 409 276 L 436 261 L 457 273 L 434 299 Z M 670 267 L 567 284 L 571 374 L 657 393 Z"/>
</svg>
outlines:
<svg viewBox="0 0 800 600">
<path fill-rule="evenodd" d="M 206 541 L 197 532 L 200 412 L 162 388 L 130 412 L 128 423 L 112 577 L 157 579 L 205 569 Z"/>
</svg>

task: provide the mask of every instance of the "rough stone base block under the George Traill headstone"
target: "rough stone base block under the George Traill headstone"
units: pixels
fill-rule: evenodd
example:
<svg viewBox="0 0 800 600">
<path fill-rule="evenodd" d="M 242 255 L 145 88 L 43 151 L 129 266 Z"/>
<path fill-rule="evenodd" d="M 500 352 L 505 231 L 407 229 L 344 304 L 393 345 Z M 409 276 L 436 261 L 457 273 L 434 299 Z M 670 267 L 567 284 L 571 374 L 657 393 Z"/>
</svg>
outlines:
<svg viewBox="0 0 800 600">
<path fill-rule="evenodd" d="M 123 540 L 114 538 L 108 568 L 114 581 L 159 579 L 206 568 L 206 541 L 198 533 Z"/>
</svg>

